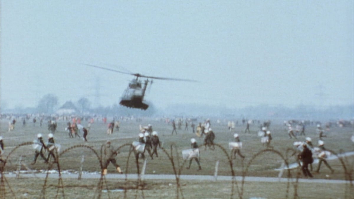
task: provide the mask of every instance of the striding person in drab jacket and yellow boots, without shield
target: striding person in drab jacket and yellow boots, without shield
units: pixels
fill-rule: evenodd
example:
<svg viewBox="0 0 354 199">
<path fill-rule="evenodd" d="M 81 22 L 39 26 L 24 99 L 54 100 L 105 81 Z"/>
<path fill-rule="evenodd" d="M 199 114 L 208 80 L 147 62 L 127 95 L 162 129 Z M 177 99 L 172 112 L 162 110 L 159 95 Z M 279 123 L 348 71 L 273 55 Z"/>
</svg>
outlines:
<svg viewBox="0 0 354 199">
<path fill-rule="evenodd" d="M 117 152 L 114 149 L 114 147 L 111 145 L 111 142 L 109 140 L 104 144 L 103 158 L 102 158 L 102 165 L 103 165 L 102 175 L 107 174 L 107 167 L 109 163 L 112 163 L 120 174 L 123 174 L 122 170 L 120 169 L 120 166 L 117 164 L 115 160 L 115 157 L 118 153 L 119 152 Z"/>
</svg>

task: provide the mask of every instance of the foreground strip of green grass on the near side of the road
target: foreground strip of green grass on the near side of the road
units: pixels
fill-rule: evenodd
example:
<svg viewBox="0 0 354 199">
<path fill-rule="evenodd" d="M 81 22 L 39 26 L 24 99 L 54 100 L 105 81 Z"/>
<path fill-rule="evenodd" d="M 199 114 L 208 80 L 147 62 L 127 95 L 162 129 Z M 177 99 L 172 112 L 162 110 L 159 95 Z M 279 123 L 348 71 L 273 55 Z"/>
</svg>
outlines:
<svg viewBox="0 0 354 199">
<path fill-rule="evenodd" d="M 44 180 L 34 180 L 34 178 L 8 178 L 7 182 L 11 184 L 12 190 L 16 198 L 93 198 L 98 196 L 97 184 L 99 179 L 63 179 L 63 188 L 58 188 L 57 179 L 49 179 L 45 193 L 42 194 Z M 177 198 L 177 188 L 175 181 L 167 180 L 145 180 L 144 186 L 137 188 L 135 181 L 125 182 L 124 180 L 109 179 L 103 184 L 103 192 L 101 198 Z M 31 184 L 31 186 L 28 186 Z M 240 194 L 236 191 L 232 193 L 232 183 L 227 181 L 184 181 L 180 182 L 182 192 L 178 192 L 179 198 L 240 198 Z M 238 182 L 238 186 L 240 186 Z M 104 192 L 106 185 L 110 192 Z M 124 191 L 114 192 L 116 189 L 124 189 L 127 187 L 126 195 Z M 348 187 L 347 187 L 348 188 Z M 343 184 L 325 184 L 325 183 L 299 183 L 297 187 L 298 198 L 351 198 L 352 192 Z M 12 198 L 13 194 L 6 187 L 7 198 Z M 233 194 L 233 195 L 232 195 Z M 294 198 L 294 184 L 290 183 L 288 192 L 287 184 L 279 182 L 245 182 L 243 198 L 263 197 L 263 198 Z"/>
</svg>

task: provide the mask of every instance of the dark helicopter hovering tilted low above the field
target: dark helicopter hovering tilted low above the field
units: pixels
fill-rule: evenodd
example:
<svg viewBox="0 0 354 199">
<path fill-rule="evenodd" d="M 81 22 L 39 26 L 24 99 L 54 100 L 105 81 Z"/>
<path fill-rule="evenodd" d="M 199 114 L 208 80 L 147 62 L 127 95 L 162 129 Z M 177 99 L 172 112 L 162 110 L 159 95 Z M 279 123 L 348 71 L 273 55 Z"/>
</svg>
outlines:
<svg viewBox="0 0 354 199">
<path fill-rule="evenodd" d="M 90 67 L 104 69 L 104 70 L 109 70 L 109 71 L 116 72 L 116 73 L 122 73 L 122 74 L 136 76 L 136 78 L 132 79 L 130 81 L 128 87 L 124 90 L 119 104 L 121 106 L 129 107 L 129 108 L 137 108 L 137 109 L 142 109 L 142 110 L 146 110 L 149 107 L 148 104 L 144 103 L 144 96 L 145 96 L 145 91 L 146 91 L 146 88 L 147 88 L 149 82 L 150 82 L 150 85 L 153 83 L 152 79 L 197 82 L 195 80 L 189 80 L 189 79 L 162 78 L 162 77 L 142 75 L 140 73 L 127 73 L 127 72 L 122 72 L 119 70 L 95 66 L 95 65 L 91 65 L 91 64 L 85 64 L 85 65 L 90 66 Z M 145 79 L 142 82 L 139 78 L 147 78 L 147 79 Z M 151 79 L 151 80 L 149 80 L 149 79 Z"/>
</svg>

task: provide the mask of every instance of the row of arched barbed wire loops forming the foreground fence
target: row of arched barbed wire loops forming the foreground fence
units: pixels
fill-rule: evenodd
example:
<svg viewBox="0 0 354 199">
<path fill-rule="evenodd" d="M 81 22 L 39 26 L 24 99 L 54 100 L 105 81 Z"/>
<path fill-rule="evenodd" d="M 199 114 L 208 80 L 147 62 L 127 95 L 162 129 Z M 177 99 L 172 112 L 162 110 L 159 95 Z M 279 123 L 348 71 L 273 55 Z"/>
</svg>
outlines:
<svg viewBox="0 0 354 199">
<path fill-rule="evenodd" d="M 10 157 L 13 156 L 14 152 L 16 150 L 18 150 L 21 147 L 24 146 L 28 146 L 28 145 L 32 145 L 33 142 L 24 142 L 19 144 L 18 146 L 16 146 L 15 148 L 13 148 L 11 150 L 11 152 L 6 156 L 5 159 L 0 159 L 0 172 L 1 172 L 1 178 L 0 178 L 0 198 L 16 198 L 16 194 L 13 191 L 11 184 L 7 181 L 4 171 L 6 168 L 6 163 L 10 160 Z M 285 197 L 284 198 L 299 198 L 298 195 L 298 184 L 299 184 L 299 178 L 301 177 L 301 168 L 297 167 L 296 170 L 296 175 L 292 176 L 290 168 L 289 168 L 289 159 L 293 156 L 293 154 L 295 154 L 295 149 L 292 148 L 287 148 L 285 151 L 285 154 L 282 154 L 281 152 L 279 152 L 278 150 L 275 149 L 270 149 L 270 148 L 266 148 L 263 149 L 259 152 L 257 152 L 256 154 L 252 155 L 252 157 L 250 158 L 250 160 L 247 163 L 244 163 L 244 160 L 241 161 L 241 185 L 238 183 L 238 181 L 236 180 L 236 175 L 235 175 L 235 171 L 234 171 L 234 164 L 231 158 L 231 154 L 228 152 L 228 150 L 226 150 L 223 146 L 215 143 L 213 147 L 217 147 L 213 150 L 221 150 L 223 155 L 220 155 L 220 157 L 224 158 L 227 163 L 230 166 L 229 172 L 230 172 L 230 176 L 232 176 L 232 181 L 231 181 L 231 192 L 230 192 L 230 198 L 240 198 L 242 199 L 244 196 L 244 189 L 245 189 L 245 178 L 248 176 L 249 173 L 249 169 L 250 166 L 252 166 L 252 163 L 255 159 L 257 159 L 260 155 L 263 154 L 275 154 L 277 155 L 282 161 L 284 161 L 284 166 L 285 168 L 287 168 L 287 184 L 286 184 L 286 191 L 285 191 Z M 91 146 L 87 146 L 85 144 L 79 144 L 79 145 L 75 145 L 72 147 L 69 147 L 67 149 L 65 149 L 63 152 L 58 153 L 57 149 L 54 149 L 54 153 L 55 153 L 55 160 L 50 162 L 48 164 L 47 167 L 47 171 L 46 171 L 46 177 L 45 179 L 40 179 L 40 178 L 35 178 L 36 180 L 43 180 L 43 186 L 42 186 L 42 190 L 40 193 L 40 198 L 46 198 L 46 188 L 48 187 L 48 178 L 50 177 L 50 170 L 53 169 L 53 167 L 56 167 L 57 169 L 57 174 L 58 174 L 58 182 L 57 182 L 57 190 L 56 190 L 56 195 L 55 198 L 61 197 L 61 198 L 65 198 L 65 186 L 63 183 L 63 179 L 62 179 L 62 170 L 61 170 L 61 165 L 60 165 L 60 160 L 61 158 L 63 158 L 63 155 L 68 153 L 70 150 L 73 149 L 78 149 L 78 148 L 84 148 L 84 149 L 88 149 L 90 153 L 94 154 L 94 156 L 97 158 L 97 163 L 100 166 L 100 169 L 102 171 L 103 169 L 103 147 L 104 144 L 101 145 L 101 149 L 100 149 L 100 153 L 98 153 L 95 148 L 91 147 Z M 144 180 L 142 180 L 141 177 L 141 168 L 139 166 L 139 158 L 137 158 L 135 152 L 134 152 L 134 147 L 131 143 L 126 143 L 123 144 L 121 146 L 119 146 L 116 149 L 116 152 L 119 153 L 121 149 L 123 148 L 129 148 L 129 153 L 126 159 L 126 170 L 125 170 L 125 185 L 124 185 L 124 196 L 123 198 L 131 198 L 131 196 L 128 195 L 128 190 L 129 189 L 135 189 L 136 191 L 134 192 L 133 197 L 134 198 L 145 198 L 144 196 L 144 189 L 145 189 L 145 182 Z M 161 147 L 160 148 L 162 150 L 162 152 L 164 152 L 164 154 L 167 156 L 167 158 L 169 159 L 170 163 L 171 163 L 171 169 L 173 171 L 173 174 L 175 175 L 175 181 L 176 181 L 176 198 L 184 198 L 183 195 L 183 189 L 180 183 L 180 177 L 184 168 L 185 163 L 187 162 L 188 159 L 184 159 L 183 161 L 181 160 L 181 156 L 179 154 L 178 148 L 176 146 L 176 144 L 171 143 L 169 150 Z M 328 149 L 327 149 L 328 150 Z M 341 154 L 343 154 L 343 150 L 339 151 L 339 154 L 337 154 L 336 152 L 334 152 L 333 150 L 328 150 L 329 152 L 331 152 L 333 155 L 335 155 L 339 162 L 341 163 L 341 166 L 343 168 L 343 172 L 344 172 L 344 176 L 345 176 L 345 180 L 347 181 L 347 183 L 345 184 L 345 191 L 344 191 L 344 198 L 351 198 L 354 195 L 354 186 L 353 186 L 353 171 L 354 171 L 354 160 L 349 160 L 346 156 L 343 156 Z M 292 155 L 289 156 L 289 152 L 292 153 Z M 137 169 L 137 180 L 135 183 L 135 187 L 129 187 L 129 180 L 128 180 L 128 176 L 127 174 L 131 173 L 131 171 L 129 170 L 130 164 L 131 164 L 131 155 L 134 154 L 134 158 L 133 158 L 133 162 L 135 163 L 136 169 Z M 145 159 L 146 161 L 146 159 Z M 144 165 L 146 165 L 146 162 L 144 163 Z M 291 178 L 295 177 L 295 182 L 291 181 Z M 294 193 L 291 196 L 289 194 L 290 192 L 290 187 L 291 184 L 293 185 L 294 188 Z M 111 193 L 110 193 L 110 189 L 109 189 L 109 184 L 107 183 L 107 179 L 105 177 L 105 175 L 102 174 L 101 172 L 101 177 L 99 178 L 99 181 L 97 183 L 97 188 L 95 189 L 95 193 L 93 198 L 97 198 L 100 199 L 102 197 L 102 191 L 103 190 L 107 190 L 107 195 L 105 197 L 108 198 L 112 198 Z M 140 193 L 139 193 L 140 192 Z M 116 198 L 116 197 L 115 197 Z"/>
</svg>

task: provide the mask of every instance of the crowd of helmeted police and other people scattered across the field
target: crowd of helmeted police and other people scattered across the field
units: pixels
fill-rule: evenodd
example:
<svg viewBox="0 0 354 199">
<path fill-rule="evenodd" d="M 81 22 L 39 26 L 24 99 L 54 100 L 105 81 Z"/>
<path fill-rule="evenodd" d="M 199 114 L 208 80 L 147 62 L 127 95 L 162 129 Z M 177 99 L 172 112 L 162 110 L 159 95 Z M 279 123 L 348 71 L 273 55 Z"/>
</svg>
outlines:
<svg viewBox="0 0 354 199">
<path fill-rule="evenodd" d="M 40 126 L 42 126 L 43 118 L 38 118 L 40 121 Z M 68 135 L 70 138 L 74 137 L 80 137 L 80 131 L 82 130 L 83 133 L 83 140 L 87 142 L 87 135 L 89 134 L 90 127 L 94 121 L 97 121 L 93 118 L 86 119 L 88 121 L 87 126 L 84 127 L 81 125 L 81 120 L 82 118 L 78 117 L 73 117 L 71 118 L 71 122 L 67 122 L 67 127 L 65 130 L 68 132 Z M 33 125 L 35 125 L 36 120 L 33 119 Z M 103 117 L 102 121 L 104 124 L 107 123 L 107 118 Z M 177 135 L 177 129 L 181 129 L 181 124 L 184 123 L 184 131 L 189 131 L 189 126 L 191 127 L 191 131 L 195 133 L 195 135 L 199 138 L 204 137 L 204 142 L 202 143 L 202 146 L 204 146 L 204 150 L 207 148 L 214 150 L 215 149 L 215 143 L 214 140 L 216 139 L 215 133 L 212 130 L 211 127 L 211 122 L 210 119 L 206 119 L 204 123 L 196 123 L 195 120 L 171 120 L 172 124 L 172 132 L 171 134 Z M 219 121 L 218 121 L 219 122 Z M 9 131 L 12 131 L 15 129 L 15 123 L 16 119 L 12 119 L 9 122 Z M 242 125 L 245 125 L 246 128 L 242 133 L 250 133 L 250 126 L 255 122 L 254 120 L 242 120 Z M 227 128 L 229 131 L 235 131 L 235 126 L 237 126 L 239 123 L 238 121 L 228 121 L 227 122 Z M 258 132 L 258 136 L 261 137 L 261 143 L 265 146 L 265 148 L 273 149 L 273 146 L 271 144 L 273 137 L 272 133 L 269 130 L 270 126 L 270 121 L 266 121 L 264 123 L 260 123 L 258 120 L 258 124 L 260 124 L 260 131 Z M 298 162 L 299 166 L 302 169 L 303 175 L 305 177 L 310 177 L 312 178 L 313 175 L 311 174 L 312 169 L 312 163 L 314 161 L 314 157 L 319 159 L 318 167 L 315 170 L 316 173 L 320 172 L 321 164 L 323 163 L 325 166 L 329 168 L 329 170 L 333 173 L 334 170 L 332 167 L 329 165 L 329 163 L 326 161 L 326 157 L 330 155 L 330 152 L 328 152 L 325 147 L 324 147 L 324 140 L 323 138 L 326 138 L 325 132 L 328 131 L 328 129 L 331 127 L 333 124 L 328 124 L 326 123 L 325 127 L 322 127 L 320 123 L 315 123 L 316 124 L 316 133 L 318 134 L 318 146 L 314 147 L 312 144 L 312 139 L 310 137 L 306 137 L 303 142 L 301 141 L 296 141 L 293 143 L 293 146 L 296 148 L 296 153 L 293 155 L 296 156 L 296 161 Z M 342 123 L 338 123 L 342 124 Z M 23 120 L 23 126 L 26 125 L 25 120 Z M 107 134 L 112 135 L 114 130 L 116 132 L 119 131 L 120 128 L 120 121 L 113 119 L 112 122 L 107 123 Z M 284 126 L 286 127 L 286 132 L 287 135 L 289 135 L 290 139 L 296 139 L 298 140 L 300 136 L 306 136 L 305 134 L 305 127 L 309 125 L 305 121 L 294 121 L 294 120 L 289 120 L 284 122 Z M 158 132 L 153 130 L 153 127 L 151 124 L 148 124 L 147 126 L 139 126 L 140 127 L 140 132 L 138 133 L 138 142 L 137 145 L 134 146 L 133 152 L 135 154 L 135 159 L 136 161 L 139 161 L 139 159 L 145 159 L 145 151 L 147 151 L 147 154 L 149 155 L 148 157 L 151 158 L 152 160 L 154 159 L 154 156 L 157 158 L 158 157 L 158 148 L 161 148 L 161 143 L 160 139 L 158 136 Z M 41 133 L 38 133 L 37 135 L 37 140 L 35 142 L 35 154 L 34 154 L 34 159 L 32 164 L 36 163 L 36 160 L 39 156 L 44 160 L 45 163 L 48 163 L 50 158 L 53 159 L 53 162 L 56 162 L 56 144 L 54 142 L 54 135 L 56 132 L 57 128 L 57 122 L 55 119 L 48 119 L 48 141 L 47 143 L 44 143 L 43 138 Z M 238 155 L 242 160 L 245 159 L 245 155 L 241 153 L 242 149 L 242 142 L 240 139 L 241 134 L 240 133 L 234 133 L 233 137 L 234 139 L 230 139 L 229 147 L 231 149 L 230 156 L 233 159 L 236 159 L 236 155 Z M 354 137 L 354 136 L 353 136 Z M 197 141 L 195 138 L 192 138 L 190 140 L 191 144 L 191 149 L 196 150 L 198 149 L 199 153 L 199 145 L 197 144 Z M 354 138 L 353 138 L 354 142 Z M 4 142 L 3 142 L 3 137 L 0 136 L 0 158 L 1 154 L 4 153 Z M 45 152 L 47 152 L 47 156 L 45 157 Z M 111 141 L 107 141 L 104 144 L 103 147 L 103 170 L 102 174 L 106 175 L 107 174 L 107 167 L 110 163 L 112 163 L 116 167 L 116 171 L 119 173 L 122 173 L 122 170 L 117 164 L 116 161 L 116 155 L 119 153 L 117 149 L 112 145 Z M 189 159 L 189 165 L 187 169 L 190 169 L 190 166 L 193 162 L 193 160 L 196 161 L 198 165 L 198 170 L 201 170 L 201 163 L 198 157 L 191 157 Z M 308 166 L 310 166 L 310 169 L 308 169 Z"/>
</svg>

